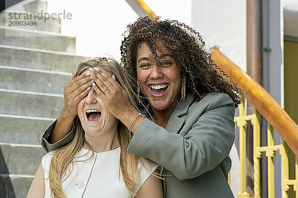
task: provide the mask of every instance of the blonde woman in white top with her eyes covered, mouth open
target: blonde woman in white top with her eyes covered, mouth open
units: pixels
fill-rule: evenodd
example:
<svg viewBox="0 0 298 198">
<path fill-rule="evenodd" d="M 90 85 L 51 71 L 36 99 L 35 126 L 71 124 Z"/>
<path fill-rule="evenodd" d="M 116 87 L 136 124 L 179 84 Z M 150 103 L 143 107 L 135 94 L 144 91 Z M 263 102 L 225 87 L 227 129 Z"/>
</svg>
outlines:
<svg viewBox="0 0 298 198">
<path fill-rule="evenodd" d="M 151 174 L 158 164 L 127 151 L 128 128 L 105 108 L 94 91 L 90 75 L 94 69 L 112 76 L 135 107 L 128 78 L 116 61 L 98 58 L 80 63 L 75 76 L 89 82 L 84 83 L 87 93 L 76 106 L 74 139 L 43 156 L 27 198 L 163 196 L 160 180 Z M 71 89 L 74 81 L 65 89 Z"/>
</svg>

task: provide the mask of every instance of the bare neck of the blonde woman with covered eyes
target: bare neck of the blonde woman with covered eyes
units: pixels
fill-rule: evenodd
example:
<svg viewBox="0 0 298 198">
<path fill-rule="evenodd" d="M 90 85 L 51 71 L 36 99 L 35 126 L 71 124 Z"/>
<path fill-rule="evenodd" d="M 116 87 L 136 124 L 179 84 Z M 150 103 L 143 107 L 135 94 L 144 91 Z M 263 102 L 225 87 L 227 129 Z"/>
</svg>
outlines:
<svg viewBox="0 0 298 198">
<path fill-rule="evenodd" d="M 117 123 L 115 125 L 115 127 L 107 131 L 102 131 L 97 135 L 85 133 L 86 142 L 91 146 L 94 152 L 112 150 L 120 146 Z M 84 148 L 87 148 L 86 145 Z"/>
</svg>

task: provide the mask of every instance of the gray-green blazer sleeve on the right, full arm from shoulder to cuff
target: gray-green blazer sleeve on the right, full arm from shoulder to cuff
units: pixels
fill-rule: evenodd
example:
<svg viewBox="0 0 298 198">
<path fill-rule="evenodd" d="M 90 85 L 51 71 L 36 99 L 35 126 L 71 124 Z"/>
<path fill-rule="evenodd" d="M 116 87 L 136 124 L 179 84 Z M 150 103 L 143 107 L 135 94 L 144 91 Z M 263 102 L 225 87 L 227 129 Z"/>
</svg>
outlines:
<svg viewBox="0 0 298 198">
<path fill-rule="evenodd" d="M 199 102 L 197 108 L 201 108 Z M 145 119 L 128 151 L 162 165 L 179 180 L 214 169 L 228 156 L 234 141 L 233 100 L 226 94 L 213 99 L 184 137 Z M 195 119 L 196 120 L 196 119 Z"/>
</svg>

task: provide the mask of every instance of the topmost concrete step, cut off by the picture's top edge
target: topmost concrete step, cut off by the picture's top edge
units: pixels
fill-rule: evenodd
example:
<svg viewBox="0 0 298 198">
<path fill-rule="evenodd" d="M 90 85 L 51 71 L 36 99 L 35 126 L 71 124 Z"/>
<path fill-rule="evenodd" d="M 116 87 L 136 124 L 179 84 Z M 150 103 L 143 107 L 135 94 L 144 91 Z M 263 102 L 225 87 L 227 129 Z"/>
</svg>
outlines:
<svg viewBox="0 0 298 198">
<path fill-rule="evenodd" d="M 28 1 L 23 1 L 17 3 L 10 7 L 10 9 L 26 11 L 26 12 L 45 12 L 47 10 L 47 1 L 44 0 L 34 0 L 28 3 Z"/>
</svg>

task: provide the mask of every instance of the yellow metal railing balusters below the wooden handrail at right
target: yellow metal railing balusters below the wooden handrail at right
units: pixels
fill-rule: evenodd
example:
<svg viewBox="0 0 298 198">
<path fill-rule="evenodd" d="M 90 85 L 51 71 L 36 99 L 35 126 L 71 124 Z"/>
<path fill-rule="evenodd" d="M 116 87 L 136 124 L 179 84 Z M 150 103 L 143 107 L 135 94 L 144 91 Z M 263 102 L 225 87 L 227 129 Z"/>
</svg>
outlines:
<svg viewBox="0 0 298 198">
<path fill-rule="evenodd" d="M 261 134 L 259 124 L 259 113 L 254 110 L 251 115 L 245 115 L 244 105 L 239 105 L 239 116 L 234 118 L 234 121 L 239 127 L 239 159 L 240 159 L 240 193 L 237 198 L 249 198 L 249 194 L 246 192 L 246 131 L 245 126 L 247 121 L 250 121 L 253 126 L 253 170 L 254 170 L 254 198 L 261 197 L 261 172 L 260 172 L 260 158 L 262 152 L 266 153 L 268 160 L 268 198 L 275 197 L 275 175 L 274 175 L 274 157 L 275 152 L 279 151 L 282 155 L 282 178 L 283 178 L 283 198 L 289 198 L 288 191 L 290 186 L 294 186 L 296 192 L 296 198 L 298 198 L 298 158 L 295 157 L 295 179 L 289 179 L 289 157 L 288 146 L 284 141 L 281 145 L 274 145 L 273 140 L 273 128 L 268 123 L 267 127 L 267 146 L 260 146 Z"/>
</svg>

